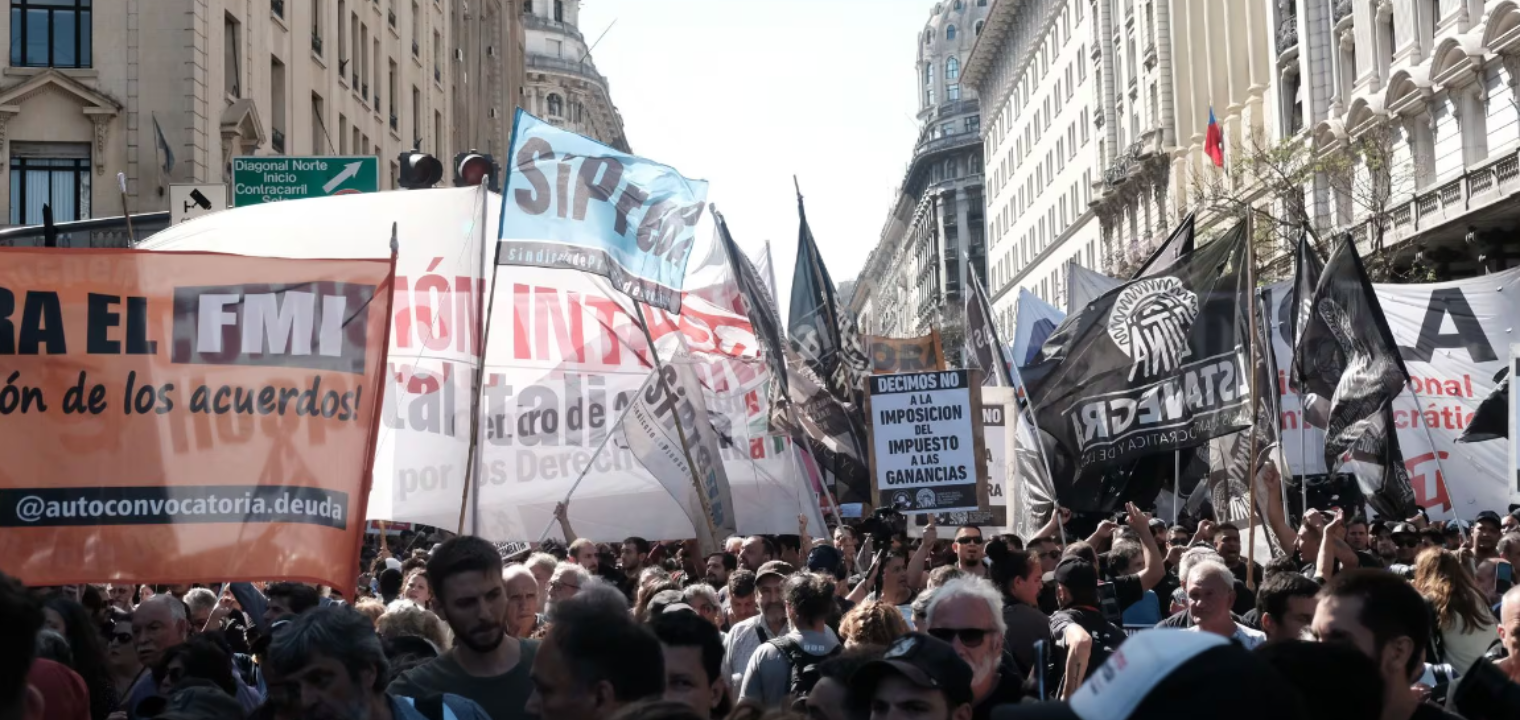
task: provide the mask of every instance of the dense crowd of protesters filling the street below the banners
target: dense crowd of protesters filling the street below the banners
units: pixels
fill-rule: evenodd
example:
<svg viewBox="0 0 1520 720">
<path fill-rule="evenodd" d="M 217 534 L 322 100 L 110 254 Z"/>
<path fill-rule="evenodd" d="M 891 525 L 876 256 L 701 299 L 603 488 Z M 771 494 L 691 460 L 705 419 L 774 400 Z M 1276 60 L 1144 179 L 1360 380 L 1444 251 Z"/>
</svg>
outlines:
<svg viewBox="0 0 1520 720">
<path fill-rule="evenodd" d="M 558 515 L 518 553 L 380 535 L 353 597 L 0 576 L 0 720 L 1520 717 L 1520 510 L 1310 510 L 1265 565 L 1132 504 L 705 556 Z"/>
</svg>

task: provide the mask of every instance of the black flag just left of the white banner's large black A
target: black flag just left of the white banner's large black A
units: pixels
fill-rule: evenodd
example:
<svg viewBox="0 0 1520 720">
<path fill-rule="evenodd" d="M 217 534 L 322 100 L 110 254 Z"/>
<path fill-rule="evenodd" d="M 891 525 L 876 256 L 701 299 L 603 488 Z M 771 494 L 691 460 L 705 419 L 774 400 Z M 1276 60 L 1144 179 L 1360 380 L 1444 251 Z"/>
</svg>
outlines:
<svg viewBox="0 0 1520 720">
<path fill-rule="evenodd" d="M 1325 428 L 1325 468 L 1354 474 L 1379 515 L 1408 518 L 1415 495 L 1392 406 L 1409 372 L 1350 234 L 1332 251 L 1309 307 L 1294 366 L 1303 371 L 1306 421 Z"/>
</svg>

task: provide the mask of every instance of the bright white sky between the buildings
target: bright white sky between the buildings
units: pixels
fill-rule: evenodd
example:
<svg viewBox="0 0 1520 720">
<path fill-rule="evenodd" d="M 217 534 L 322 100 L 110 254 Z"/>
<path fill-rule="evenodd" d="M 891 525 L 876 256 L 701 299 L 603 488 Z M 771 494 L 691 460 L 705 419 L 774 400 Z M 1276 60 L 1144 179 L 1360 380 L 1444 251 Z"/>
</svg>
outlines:
<svg viewBox="0 0 1520 720">
<path fill-rule="evenodd" d="M 876 248 L 918 137 L 933 0 L 582 0 L 635 155 L 707 179 L 739 245 L 771 240 L 783 322 L 795 173 L 834 284 Z M 616 24 L 614 24 L 616 20 Z"/>
</svg>

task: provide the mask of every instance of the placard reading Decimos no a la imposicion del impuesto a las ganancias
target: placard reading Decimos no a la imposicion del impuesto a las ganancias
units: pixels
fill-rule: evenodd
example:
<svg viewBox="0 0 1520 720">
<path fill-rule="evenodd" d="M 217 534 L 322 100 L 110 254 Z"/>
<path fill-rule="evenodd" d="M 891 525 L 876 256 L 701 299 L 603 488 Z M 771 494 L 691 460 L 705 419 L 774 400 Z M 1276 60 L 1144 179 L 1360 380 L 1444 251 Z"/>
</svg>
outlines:
<svg viewBox="0 0 1520 720">
<path fill-rule="evenodd" d="M 982 393 L 971 372 L 872 375 L 869 389 L 879 507 L 904 513 L 986 509 Z"/>
</svg>

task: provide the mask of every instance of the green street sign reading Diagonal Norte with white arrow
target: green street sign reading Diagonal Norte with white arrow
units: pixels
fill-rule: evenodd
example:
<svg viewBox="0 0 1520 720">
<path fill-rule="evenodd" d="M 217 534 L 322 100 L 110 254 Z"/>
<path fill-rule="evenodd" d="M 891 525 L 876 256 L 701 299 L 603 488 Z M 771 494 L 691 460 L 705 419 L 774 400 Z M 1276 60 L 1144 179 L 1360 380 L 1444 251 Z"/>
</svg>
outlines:
<svg viewBox="0 0 1520 720">
<path fill-rule="evenodd" d="M 380 190 L 375 156 L 233 158 L 233 207 Z"/>
</svg>

